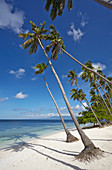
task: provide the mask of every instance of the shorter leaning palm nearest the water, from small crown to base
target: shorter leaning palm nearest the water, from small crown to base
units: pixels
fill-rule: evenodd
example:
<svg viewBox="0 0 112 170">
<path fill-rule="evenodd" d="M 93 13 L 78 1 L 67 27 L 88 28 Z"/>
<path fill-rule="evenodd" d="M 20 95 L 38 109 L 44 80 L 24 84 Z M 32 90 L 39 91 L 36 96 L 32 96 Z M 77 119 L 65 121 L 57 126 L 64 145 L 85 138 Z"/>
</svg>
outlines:
<svg viewBox="0 0 112 170">
<path fill-rule="evenodd" d="M 48 86 L 48 84 L 47 84 L 47 81 L 46 81 L 46 79 L 45 79 L 45 74 L 44 74 L 44 70 L 45 70 L 46 68 L 47 68 L 47 65 L 45 65 L 45 63 L 37 64 L 37 65 L 34 67 L 34 69 L 36 69 L 35 74 L 36 74 L 36 75 L 37 75 L 37 74 L 41 74 L 41 73 L 43 74 L 43 79 L 44 79 L 45 85 L 46 85 L 46 87 L 47 87 L 47 90 L 48 90 L 48 92 L 49 92 L 49 94 L 50 94 L 50 96 L 51 96 L 54 104 L 55 104 L 55 107 L 56 107 L 56 109 L 57 109 L 57 112 L 58 112 L 58 114 L 59 114 L 59 116 L 60 116 L 60 119 L 61 119 L 61 121 L 62 121 L 64 130 L 65 130 L 65 133 L 66 133 L 66 135 L 67 135 L 66 142 L 78 141 L 78 139 L 77 139 L 76 137 L 74 137 L 74 136 L 69 132 L 69 130 L 67 129 L 67 127 L 66 127 L 66 125 L 65 125 L 65 122 L 64 122 L 64 120 L 63 120 L 63 117 L 62 117 L 62 115 L 61 115 L 60 109 L 59 109 L 59 107 L 58 107 L 58 105 L 57 105 L 57 103 L 56 103 L 56 100 L 54 99 L 54 97 L 53 97 L 53 95 L 52 95 L 52 93 L 51 93 L 51 90 L 49 89 L 49 86 Z M 37 70 L 37 69 L 38 69 L 38 70 Z"/>
</svg>

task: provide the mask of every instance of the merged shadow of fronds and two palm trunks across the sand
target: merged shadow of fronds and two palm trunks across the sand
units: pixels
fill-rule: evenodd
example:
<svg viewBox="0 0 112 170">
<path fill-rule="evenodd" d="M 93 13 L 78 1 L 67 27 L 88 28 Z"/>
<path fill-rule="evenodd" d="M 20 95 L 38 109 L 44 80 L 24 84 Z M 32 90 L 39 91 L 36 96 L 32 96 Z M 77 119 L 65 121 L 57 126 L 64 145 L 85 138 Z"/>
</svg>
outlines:
<svg viewBox="0 0 112 170">
<path fill-rule="evenodd" d="M 32 144 L 32 143 L 26 143 L 26 142 L 19 142 L 18 144 L 15 144 L 13 146 L 9 146 L 7 148 L 3 148 L 2 150 L 4 150 L 4 151 L 12 150 L 12 152 L 18 152 L 18 151 L 23 151 L 23 149 L 25 149 L 25 148 L 28 148 L 28 149 L 31 149 L 31 150 L 37 152 L 38 154 L 41 154 L 41 155 L 45 156 L 47 159 L 49 158 L 49 159 L 51 159 L 53 161 L 56 161 L 56 162 L 61 163 L 63 165 L 66 165 L 67 167 L 71 167 L 72 169 L 75 169 L 75 170 L 87 170 L 87 169 L 81 169 L 78 166 L 69 164 L 69 163 L 64 162 L 64 161 L 62 161 L 60 159 L 57 159 L 57 158 L 54 158 L 54 157 L 52 157 L 52 156 L 50 156 L 48 154 L 45 154 L 45 153 L 43 153 L 41 151 L 38 151 L 37 149 L 34 148 L 35 145 L 36 146 L 44 147 L 46 149 L 52 150 L 54 152 L 57 152 L 59 154 L 66 154 L 66 155 L 76 156 L 74 154 L 64 153 L 64 152 L 58 151 L 56 149 L 52 149 L 52 148 L 46 147 L 44 145 Z"/>
</svg>

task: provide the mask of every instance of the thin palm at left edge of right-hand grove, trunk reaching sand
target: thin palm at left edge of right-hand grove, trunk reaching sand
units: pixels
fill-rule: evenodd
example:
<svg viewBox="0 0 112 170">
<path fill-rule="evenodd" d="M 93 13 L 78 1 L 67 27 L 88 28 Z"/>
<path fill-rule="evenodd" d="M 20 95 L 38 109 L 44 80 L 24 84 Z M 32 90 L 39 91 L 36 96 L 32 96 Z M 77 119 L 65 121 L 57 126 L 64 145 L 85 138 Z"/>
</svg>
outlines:
<svg viewBox="0 0 112 170">
<path fill-rule="evenodd" d="M 87 105 L 90 107 L 92 113 L 94 114 L 94 116 L 95 116 L 95 118 L 96 118 L 96 120 L 97 120 L 97 122 L 99 124 L 99 127 L 101 127 L 102 125 L 101 125 L 100 121 L 98 120 L 94 110 L 92 109 L 91 105 L 89 104 L 88 100 L 86 99 L 86 94 L 83 93 L 82 89 L 80 89 L 80 87 L 78 85 L 77 75 L 75 73 L 75 70 L 69 71 L 69 74 L 67 75 L 67 77 L 70 78 L 69 81 L 72 81 L 71 85 L 73 85 L 74 82 L 76 82 L 76 85 L 77 85 L 77 87 L 79 89 L 79 96 L 82 97 L 86 101 Z"/>
</svg>

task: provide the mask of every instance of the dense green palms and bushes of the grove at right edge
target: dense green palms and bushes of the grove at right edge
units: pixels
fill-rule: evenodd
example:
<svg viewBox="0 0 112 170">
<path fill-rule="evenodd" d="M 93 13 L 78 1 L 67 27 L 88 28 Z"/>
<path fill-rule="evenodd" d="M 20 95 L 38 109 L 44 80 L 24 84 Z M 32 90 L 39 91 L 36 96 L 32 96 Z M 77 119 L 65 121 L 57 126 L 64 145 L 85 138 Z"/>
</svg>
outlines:
<svg viewBox="0 0 112 170">
<path fill-rule="evenodd" d="M 91 61 L 86 62 L 85 65 L 89 68 L 95 69 Z M 101 78 L 97 77 L 94 73 L 89 72 L 84 67 L 82 67 L 82 71 L 83 72 L 80 75 L 82 80 L 85 80 L 85 82 L 89 81 L 90 84 L 90 102 L 92 109 L 94 110 L 101 124 L 110 123 L 112 121 L 111 86 Z M 100 68 L 97 68 L 96 71 L 103 75 L 103 72 L 100 70 Z M 102 92 L 100 90 L 102 90 Z M 79 113 L 78 122 L 80 124 L 93 123 L 94 125 L 97 123 L 91 110 L 88 108 Z"/>
</svg>

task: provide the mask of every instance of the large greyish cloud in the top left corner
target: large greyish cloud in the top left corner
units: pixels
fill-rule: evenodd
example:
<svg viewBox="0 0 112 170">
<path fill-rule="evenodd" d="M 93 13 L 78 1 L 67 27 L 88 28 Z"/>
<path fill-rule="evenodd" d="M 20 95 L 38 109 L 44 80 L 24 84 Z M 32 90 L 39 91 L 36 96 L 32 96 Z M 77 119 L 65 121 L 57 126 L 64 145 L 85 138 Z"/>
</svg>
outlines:
<svg viewBox="0 0 112 170">
<path fill-rule="evenodd" d="M 22 27 L 24 24 L 24 13 L 23 11 L 14 9 L 5 0 L 0 0 L 0 28 L 11 29 L 15 33 L 23 31 Z"/>
</svg>

